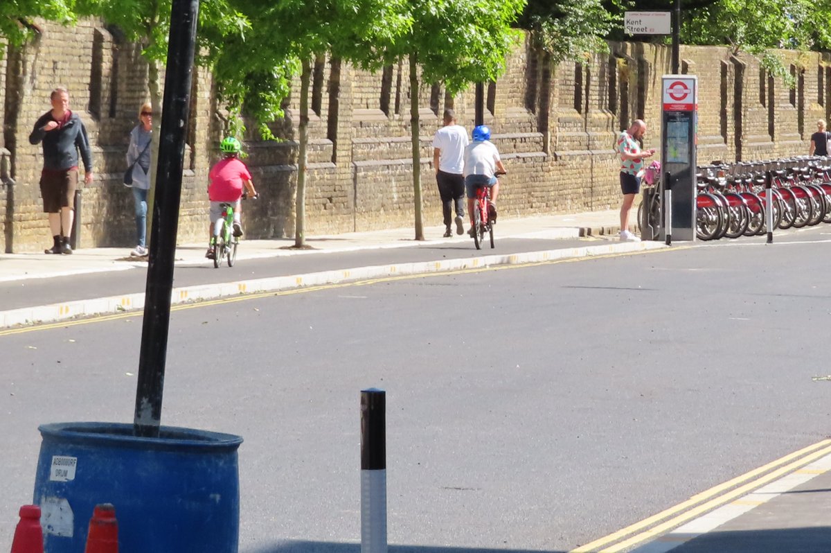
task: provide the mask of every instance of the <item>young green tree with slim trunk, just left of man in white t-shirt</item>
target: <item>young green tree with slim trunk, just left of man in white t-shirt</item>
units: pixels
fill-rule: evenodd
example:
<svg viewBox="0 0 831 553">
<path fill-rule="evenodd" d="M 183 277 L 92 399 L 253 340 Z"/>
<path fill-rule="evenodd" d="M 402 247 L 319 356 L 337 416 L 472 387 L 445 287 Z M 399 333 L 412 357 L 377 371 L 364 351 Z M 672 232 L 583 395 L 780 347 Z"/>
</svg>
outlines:
<svg viewBox="0 0 831 553">
<path fill-rule="evenodd" d="M 519 39 L 511 28 L 525 0 L 411 0 L 402 14 L 411 22 L 390 44 L 389 62 L 410 64 L 410 113 L 416 239 L 424 239 L 421 220 L 419 76 L 421 82 L 443 82 L 456 94 L 471 82 L 496 80 L 505 56 Z"/>
</svg>

